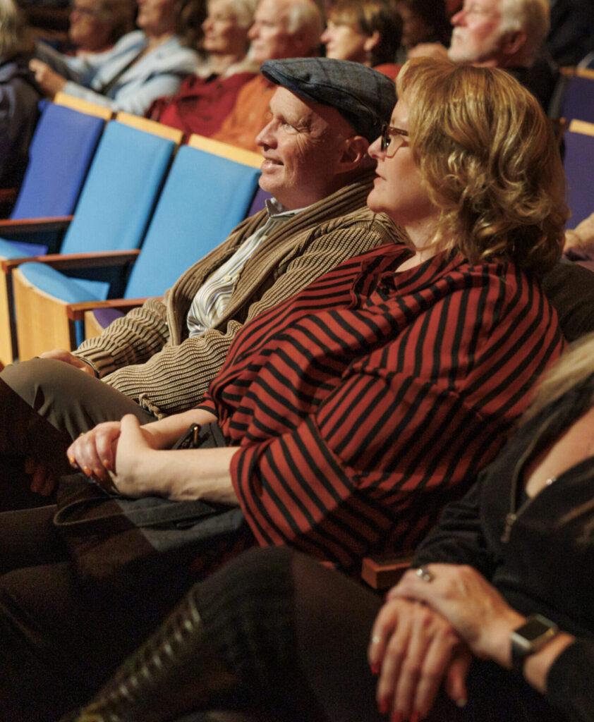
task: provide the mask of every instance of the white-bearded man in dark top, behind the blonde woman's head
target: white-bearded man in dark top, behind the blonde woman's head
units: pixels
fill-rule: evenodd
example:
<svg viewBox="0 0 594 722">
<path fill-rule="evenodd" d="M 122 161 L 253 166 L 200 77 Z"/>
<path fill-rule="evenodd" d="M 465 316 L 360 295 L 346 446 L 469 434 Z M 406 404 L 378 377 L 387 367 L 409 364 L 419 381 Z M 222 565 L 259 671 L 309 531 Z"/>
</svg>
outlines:
<svg viewBox="0 0 594 722">
<path fill-rule="evenodd" d="M 547 110 L 558 77 L 550 56 L 541 52 L 548 0 L 465 0 L 452 25 L 449 50 L 439 43 L 417 45 L 409 57 L 447 54 L 455 63 L 503 68 Z"/>
</svg>

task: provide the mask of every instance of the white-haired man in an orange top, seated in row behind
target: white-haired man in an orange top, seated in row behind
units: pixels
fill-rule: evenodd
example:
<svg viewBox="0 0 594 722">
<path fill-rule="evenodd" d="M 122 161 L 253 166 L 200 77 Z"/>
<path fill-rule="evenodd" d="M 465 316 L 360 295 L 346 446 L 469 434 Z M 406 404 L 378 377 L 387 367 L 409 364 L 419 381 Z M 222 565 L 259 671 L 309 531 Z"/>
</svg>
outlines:
<svg viewBox="0 0 594 722">
<path fill-rule="evenodd" d="M 259 63 L 317 56 L 322 30 L 324 19 L 313 0 L 260 0 L 248 33 L 250 56 Z M 264 126 L 274 90 L 274 83 L 263 75 L 246 83 L 212 137 L 257 151 L 255 138 Z"/>
</svg>

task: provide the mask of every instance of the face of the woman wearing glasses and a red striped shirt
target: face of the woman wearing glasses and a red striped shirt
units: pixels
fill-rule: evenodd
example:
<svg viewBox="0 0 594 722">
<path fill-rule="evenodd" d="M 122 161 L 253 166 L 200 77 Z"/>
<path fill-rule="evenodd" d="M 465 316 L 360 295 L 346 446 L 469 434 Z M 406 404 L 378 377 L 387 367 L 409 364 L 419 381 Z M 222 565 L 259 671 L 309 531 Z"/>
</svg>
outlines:
<svg viewBox="0 0 594 722">
<path fill-rule="evenodd" d="M 398 100 L 392 111 L 390 126 L 408 131 L 408 106 Z M 432 221 L 436 209 L 421 181 L 421 172 L 413 160 L 406 136 L 392 134 L 389 146 L 382 151 L 382 139 L 369 146 L 369 155 L 377 161 L 374 188 L 367 205 L 375 213 L 386 213 L 395 223 L 412 228 Z"/>
</svg>

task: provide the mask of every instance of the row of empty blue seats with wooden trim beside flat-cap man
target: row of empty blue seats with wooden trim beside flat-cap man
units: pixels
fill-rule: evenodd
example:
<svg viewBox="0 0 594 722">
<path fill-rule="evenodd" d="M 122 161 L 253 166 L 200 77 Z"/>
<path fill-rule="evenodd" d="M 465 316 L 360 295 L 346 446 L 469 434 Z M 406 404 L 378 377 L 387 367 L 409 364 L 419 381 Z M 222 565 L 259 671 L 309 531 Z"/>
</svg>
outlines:
<svg viewBox="0 0 594 722">
<path fill-rule="evenodd" d="M 0 222 L 4 364 L 75 348 L 95 306 L 163 295 L 254 210 L 259 155 L 73 100 L 43 110 Z"/>
</svg>

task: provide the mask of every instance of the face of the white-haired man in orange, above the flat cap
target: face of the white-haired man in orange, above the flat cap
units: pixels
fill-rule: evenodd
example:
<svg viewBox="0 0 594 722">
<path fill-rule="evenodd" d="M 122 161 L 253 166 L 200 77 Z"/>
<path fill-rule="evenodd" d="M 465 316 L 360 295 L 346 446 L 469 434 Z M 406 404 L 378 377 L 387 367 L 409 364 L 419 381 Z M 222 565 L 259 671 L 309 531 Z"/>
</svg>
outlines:
<svg viewBox="0 0 594 722">
<path fill-rule="evenodd" d="M 289 32 L 289 0 L 260 0 L 254 23 L 248 33 L 254 60 L 278 60 L 297 57 L 295 32 Z"/>
</svg>

